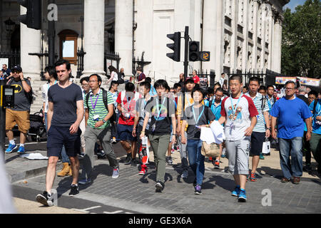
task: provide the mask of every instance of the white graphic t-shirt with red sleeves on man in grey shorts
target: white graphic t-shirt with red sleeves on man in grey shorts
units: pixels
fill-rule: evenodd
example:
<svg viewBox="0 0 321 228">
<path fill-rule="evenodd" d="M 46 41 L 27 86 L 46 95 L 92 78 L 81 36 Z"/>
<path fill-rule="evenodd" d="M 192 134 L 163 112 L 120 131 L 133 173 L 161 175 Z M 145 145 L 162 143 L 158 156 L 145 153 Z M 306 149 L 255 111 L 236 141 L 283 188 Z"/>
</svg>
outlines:
<svg viewBox="0 0 321 228">
<path fill-rule="evenodd" d="M 250 127 L 251 118 L 258 115 L 258 110 L 255 108 L 251 98 L 247 95 L 242 95 L 240 98 L 225 98 L 222 101 L 220 115 L 226 117 L 226 140 L 236 141 L 245 138 L 245 130 Z"/>
</svg>

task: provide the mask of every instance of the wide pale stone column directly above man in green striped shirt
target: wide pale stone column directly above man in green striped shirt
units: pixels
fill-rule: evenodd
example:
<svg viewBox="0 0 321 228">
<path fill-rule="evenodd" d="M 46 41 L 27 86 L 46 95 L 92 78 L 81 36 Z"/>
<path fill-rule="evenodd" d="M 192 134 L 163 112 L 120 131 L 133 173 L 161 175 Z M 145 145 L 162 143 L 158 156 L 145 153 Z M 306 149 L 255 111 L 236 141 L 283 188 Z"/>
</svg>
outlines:
<svg viewBox="0 0 321 228">
<path fill-rule="evenodd" d="M 83 46 L 86 52 L 83 59 L 83 77 L 90 76 L 92 73 L 104 75 L 104 0 L 85 0 L 83 27 Z"/>
</svg>

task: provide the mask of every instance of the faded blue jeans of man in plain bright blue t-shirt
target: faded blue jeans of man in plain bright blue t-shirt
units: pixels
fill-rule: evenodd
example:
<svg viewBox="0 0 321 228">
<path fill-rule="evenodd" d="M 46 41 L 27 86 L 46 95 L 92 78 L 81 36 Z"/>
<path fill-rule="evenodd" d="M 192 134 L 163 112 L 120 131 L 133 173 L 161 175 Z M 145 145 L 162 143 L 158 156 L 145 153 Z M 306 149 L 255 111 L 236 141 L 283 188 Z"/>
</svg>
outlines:
<svg viewBox="0 0 321 228">
<path fill-rule="evenodd" d="M 279 138 L 280 165 L 285 178 L 302 176 L 302 137 L 292 139 Z M 290 160 L 291 156 L 291 160 Z"/>
</svg>

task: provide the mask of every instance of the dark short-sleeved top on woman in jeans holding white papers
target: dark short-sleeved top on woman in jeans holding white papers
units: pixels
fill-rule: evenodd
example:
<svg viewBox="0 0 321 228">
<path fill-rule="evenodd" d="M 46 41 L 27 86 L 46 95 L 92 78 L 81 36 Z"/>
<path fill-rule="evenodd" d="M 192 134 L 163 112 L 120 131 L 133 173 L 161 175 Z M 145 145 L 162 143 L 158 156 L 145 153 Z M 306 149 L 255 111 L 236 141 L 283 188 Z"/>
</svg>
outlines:
<svg viewBox="0 0 321 228">
<path fill-rule="evenodd" d="M 215 115 L 208 106 L 201 105 L 200 108 L 194 108 L 195 118 L 193 114 L 193 106 L 185 109 L 185 115 L 183 120 L 188 123 L 187 134 L 188 140 L 199 140 L 200 139 L 200 128 L 196 128 L 195 125 L 206 125 L 210 121 L 215 120 Z M 198 123 L 195 123 L 198 120 Z"/>
</svg>

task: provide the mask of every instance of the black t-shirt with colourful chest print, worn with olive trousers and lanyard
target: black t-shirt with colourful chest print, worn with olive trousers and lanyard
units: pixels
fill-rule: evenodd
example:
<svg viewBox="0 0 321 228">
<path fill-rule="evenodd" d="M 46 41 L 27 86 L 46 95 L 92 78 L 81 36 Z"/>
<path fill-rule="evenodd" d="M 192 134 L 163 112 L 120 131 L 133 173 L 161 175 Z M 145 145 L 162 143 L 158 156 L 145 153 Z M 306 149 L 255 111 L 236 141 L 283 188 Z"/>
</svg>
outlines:
<svg viewBox="0 0 321 228">
<path fill-rule="evenodd" d="M 168 135 L 171 132 L 172 125 L 171 115 L 175 115 L 175 104 L 173 99 L 156 97 L 148 101 L 146 112 L 151 115 L 151 124 L 149 134 L 151 135 Z M 156 124 L 153 131 L 153 125 Z"/>
</svg>

